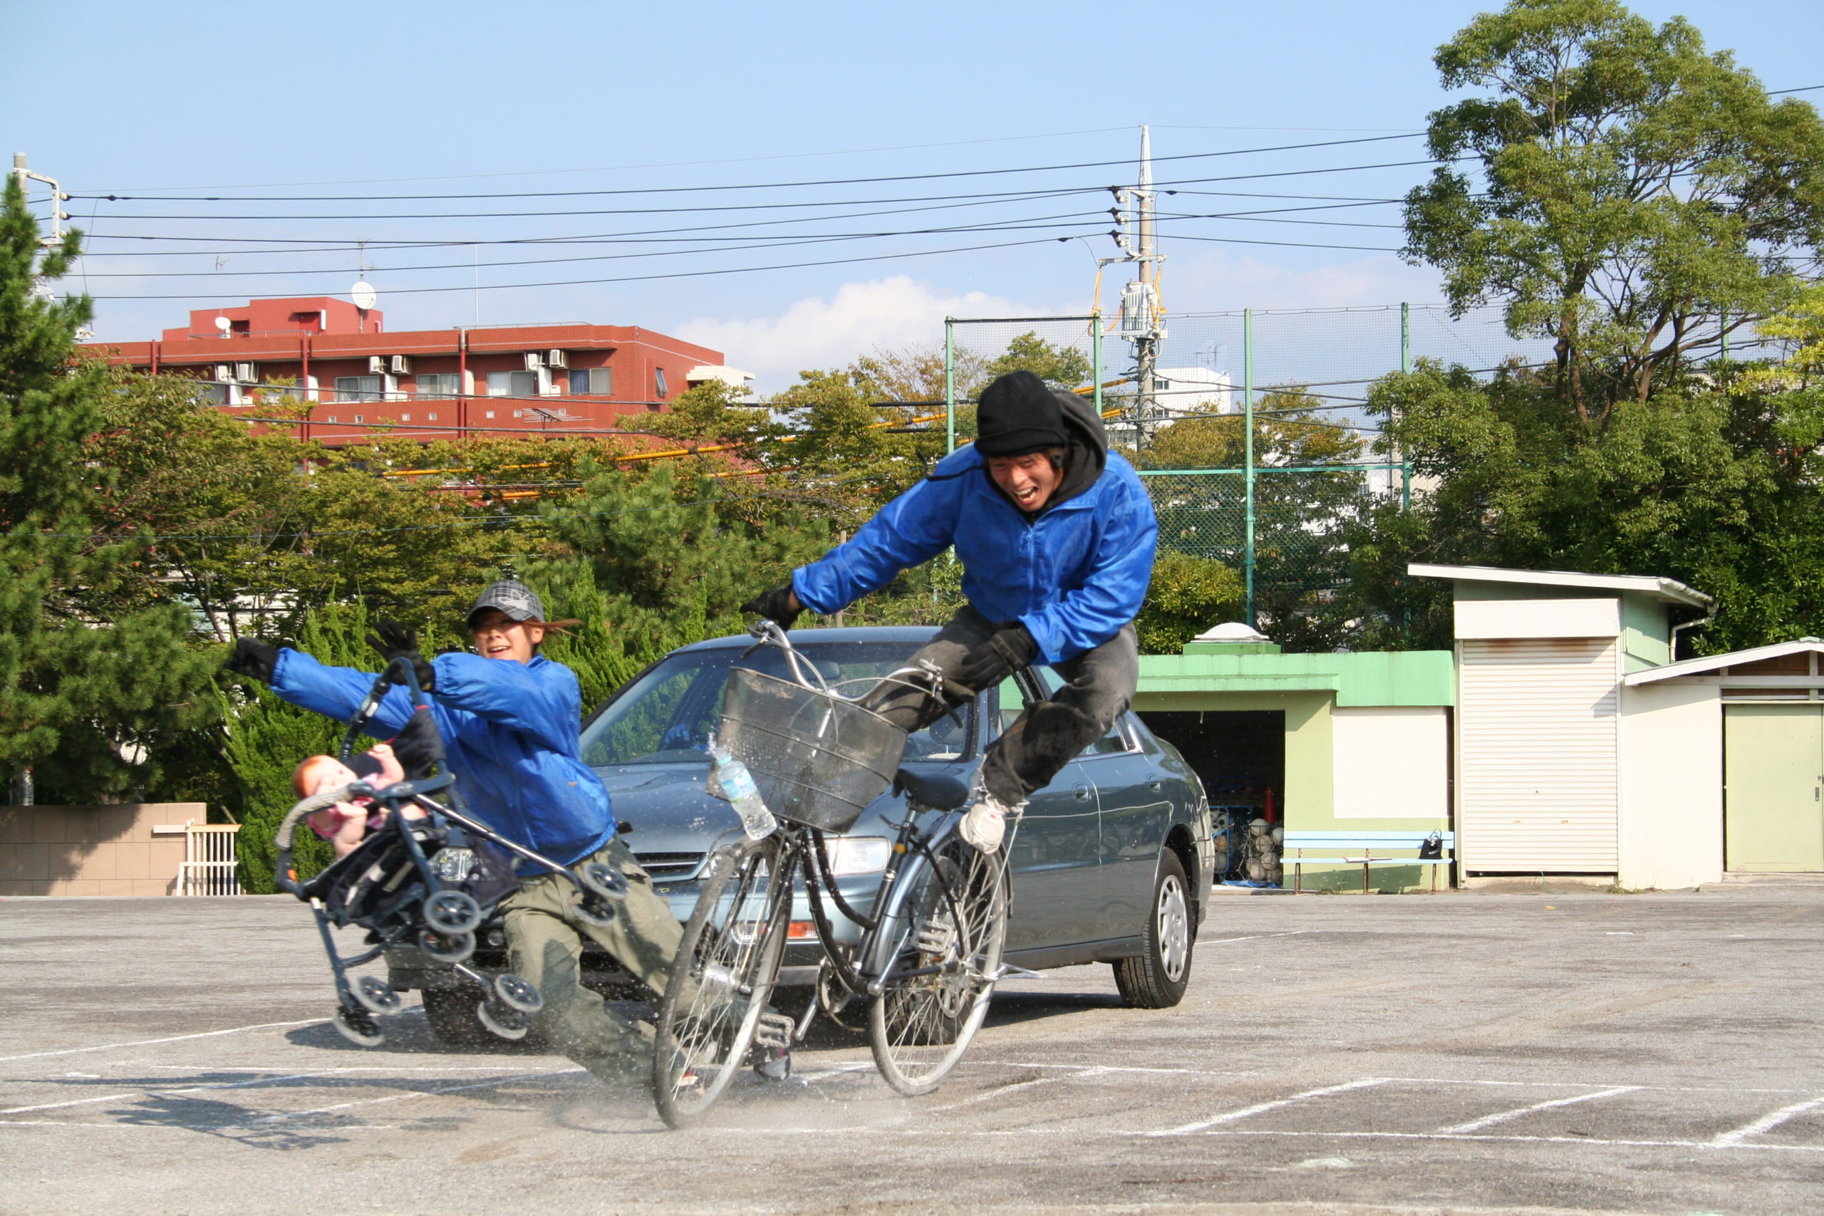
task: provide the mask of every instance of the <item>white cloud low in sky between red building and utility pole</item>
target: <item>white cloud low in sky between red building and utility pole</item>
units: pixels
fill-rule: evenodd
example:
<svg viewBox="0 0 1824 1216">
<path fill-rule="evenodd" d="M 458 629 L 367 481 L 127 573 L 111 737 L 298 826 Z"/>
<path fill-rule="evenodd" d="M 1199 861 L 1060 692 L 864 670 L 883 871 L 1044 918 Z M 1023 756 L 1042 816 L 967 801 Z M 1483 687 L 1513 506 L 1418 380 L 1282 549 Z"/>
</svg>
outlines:
<svg viewBox="0 0 1824 1216">
<path fill-rule="evenodd" d="M 762 392 L 777 392 L 804 368 L 843 366 L 876 346 L 941 343 L 943 319 L 958 315 L 1020 317 L 1032 310 L 1001 295 L 948 294 L 894 275 L 845 283 L 834 299 L 801 299 L 773 317 L 699 317 L 675 332 L 720 350 L 730 365 L 753 372 Z"/>
</svg>

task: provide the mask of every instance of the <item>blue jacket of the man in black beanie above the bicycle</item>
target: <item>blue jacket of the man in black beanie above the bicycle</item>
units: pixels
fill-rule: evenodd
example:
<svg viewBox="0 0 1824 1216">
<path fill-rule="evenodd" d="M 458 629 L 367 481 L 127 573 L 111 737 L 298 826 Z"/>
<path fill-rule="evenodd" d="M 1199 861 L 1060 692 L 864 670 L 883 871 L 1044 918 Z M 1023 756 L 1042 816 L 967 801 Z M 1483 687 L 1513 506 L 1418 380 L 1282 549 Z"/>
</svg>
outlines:
<svg viewBox="0 0 1824 1216">
<path fill-rule="evenodd" d="M 989 479 L 981 454 L 965 447 L 848 543 L 797 569 L 792 589 L 804 607 L 828 616 L 956 545 L 963 594 L 976 611 L 994 622 L 1018 620 L 1038 642 L 1040 662 L 1058 664 L 1102 645 L 1140 614 L 1156 543 L 1153 500 L 1118 454 L 1109 452 L 1100 476 L 1078 494 L 1027 516 Z"/>
</svg>

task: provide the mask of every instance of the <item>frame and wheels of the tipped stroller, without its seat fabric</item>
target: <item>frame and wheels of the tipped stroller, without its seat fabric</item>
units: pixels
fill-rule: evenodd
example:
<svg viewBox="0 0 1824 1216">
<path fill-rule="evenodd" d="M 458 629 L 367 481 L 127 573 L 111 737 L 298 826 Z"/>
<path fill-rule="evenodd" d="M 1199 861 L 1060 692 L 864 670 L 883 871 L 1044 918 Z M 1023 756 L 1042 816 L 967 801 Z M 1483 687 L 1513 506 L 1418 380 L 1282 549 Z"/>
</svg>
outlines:
<svg viewBox="0 0 1824 1216">
<path fill-rule="evenodd" d="M 418 676 L 412 662 L 407 658 L 394 658 L 374 680 L 367 698 L 348 720 L 348 729 L 343 733 L 339 751 L 341 760 L 347 762 L 354 757 L 356 737 L 367 729 L 368 722 L 372 722 L 374 713 L 379 709 L 381 700 L 394 684 L 403 684 L 412 696 L 412 704 L 418 709 L 425 709 L 425 695 L 418 687 Z M 500 895 L 489 901 L 487 908 L 483 908 L 469 891 L 460 890 L 460 881 L 447 879 L 432 864 L 430 857 L 443 848 L 463 848 L 485 840 L 511 855 L 514 864 L 518 860 L 529 860 L 554 873 L 562 873 L 576 888 L 580 901 L 576 910 L 578 917 L 593 924 L 613 922 L 617 915 L 615 901 L 627 891 L 626 877 L 611 866 L 589 860 L 571 868 L 560 866 L 549 857 L 544 857 L 496 833 L 487 822 L 469 813 L 461 800 L 461 789 L 458 788 L 454 775 L 449 771 L 449 760 L 443 755 L 441 737 L 436 735 L 434 727 L 432 740 L 430 758 L 440 769 L 436 777 L 394 782 L 381 791 L 376 791 L 367 782 L 352 782 L 341 789 L 330 789 L 306 797 L 292 806 L 274 835 L 274 844 L 277 846 L 277 886 L 279 890 L 288 891 L 310 904 L 310 912 L 317 922 L 317 933 L 323 939 L 323 952 L 328 955 L 337 995 L 337 1010 L 332 1017 L 332 1025 L 343 1037 L 359 1043 L 361 1046 L 378 1046 L 385 1041 L 374 1015 L 398 1012 L 401 999 L 399 994 L 378 975 L 361 975 L 359 979 L 350 981 L 348 970 L 374 961 L 389 946 L 416 944 L 432 959 L 452 966 L 458 974 L 474 984 L 480 984 L 489 997 L 476 1012 L 482 1025 L 502 1039 L 523 1039 L 525 1032 L 531 1028 L 531 1014 L 536 1014 L 544 1006 L 544 999 L 538 995 L 538 990 L 518 975 L 487 975 L 469 966 L 467 959 L 474 952 L 474 930 L 482 924 L 485 915 L 492 912 L 494 904 L 498 904 L 500 899 L 505 899 L 513 888 L 500 891 Z M 445 800 L 440 802 L 430 797 L 432 793 L 445 789 L 449 791 L 443 795 Z M 297 866 L 292 859 L 299 822 L 303 822 L 308 815 L 350 799 L 372 799 L 378 806 L 385 806 L 390 811 L 385 826 L 368 835 L 368 839 L 356 846 L 352 853 L 325 866 L 321 873 L 312 879 L 299 881 Z M 416 811 L 410 820 L 405 815 L 407 808 L 414 808 Z M 465 837 L 463 844 L 451 844 L 454 835 L 451 831 L 452 828 Z M 348 915 L 347 908 L 332 910 L 325 902 L 325 888 L 350 877 L 363 866 L 368 868 L 368 873 L 361 877 L 379 877 L 374 875 L 372 870 L 378 868 L 376 859 L 381 855 L 381 850 L 385 850 L 381 840 L 390 837 L 398 837 L 409 864 L 387 877 L 381 890 L 392 891 L 403 888 L 407 897 L 381 913 Z M 423 842 L 430 840 L 436 842 L 436 848 L 427 853 Z M 368 844 L 374 844 L 374 848 L 368 848 Z M 325 877 L 332 877 L 332 882 L 325 884 Z M 420 897 L 418 891 L 423 891 L 423 895 Z M 376 924 L 374 921 L 381 921 L 385 926 Z M 334 930 L 348 924 L 368 930 L 368 950 L 343 955 L 336 948 Z"/>
</svg>

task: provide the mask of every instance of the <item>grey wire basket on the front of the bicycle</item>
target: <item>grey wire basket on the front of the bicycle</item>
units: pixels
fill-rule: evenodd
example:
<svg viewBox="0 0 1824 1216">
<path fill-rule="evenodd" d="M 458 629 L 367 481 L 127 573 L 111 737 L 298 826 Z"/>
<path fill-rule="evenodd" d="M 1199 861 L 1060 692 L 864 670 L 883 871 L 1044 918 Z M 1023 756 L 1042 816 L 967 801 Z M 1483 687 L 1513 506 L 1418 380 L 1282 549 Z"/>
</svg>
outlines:
<svg viewBox="0 0 1824 1216">
<path fill-rule="evenodd" d="M 832 693 L 735 667 L 717 742 L 748 766 L 773 815 L 848 831 L 892 784 L 907 733 Z"/>
</svg>

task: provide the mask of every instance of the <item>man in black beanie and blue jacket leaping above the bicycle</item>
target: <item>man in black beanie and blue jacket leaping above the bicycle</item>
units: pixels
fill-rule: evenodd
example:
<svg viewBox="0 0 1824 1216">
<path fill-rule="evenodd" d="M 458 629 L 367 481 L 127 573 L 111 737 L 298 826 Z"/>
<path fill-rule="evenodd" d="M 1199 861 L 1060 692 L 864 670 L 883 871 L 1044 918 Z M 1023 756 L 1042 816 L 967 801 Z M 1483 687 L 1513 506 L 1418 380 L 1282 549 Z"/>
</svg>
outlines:
<svg viewBox="0 0 1824 1216">
<path fill-rule="evenodd" d="M 793 571 L 790 585 L 742 609 L 790 629 L 803 609 L 828 616 L 954 545 L 969 603 L 916 656 L 943 671 L 948 706 L 1031 664 L 1067 680 L 983 755 L 961 833 L 992 853 L 1007 815 L 1133 700 L 1133 620 L 1153 576 L 1158 523 L 1140 478 L 1109 452 L 1102 417 L 1080 396 L 1009 372 L 981 390 L 976 423 L 974 445 L 939 461 L 854 540 Z M 908 731 L 948 709 L 905 687 L 883 687 L 870 704 Z"/>
</svg>

